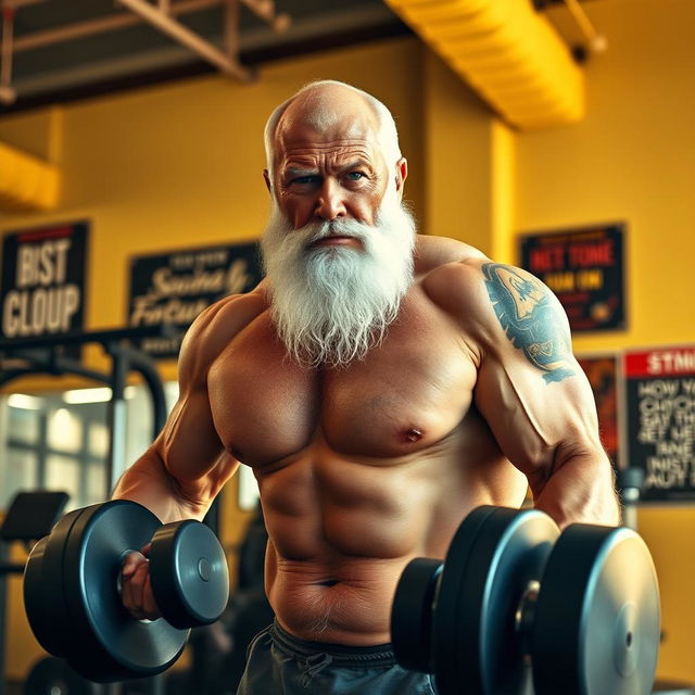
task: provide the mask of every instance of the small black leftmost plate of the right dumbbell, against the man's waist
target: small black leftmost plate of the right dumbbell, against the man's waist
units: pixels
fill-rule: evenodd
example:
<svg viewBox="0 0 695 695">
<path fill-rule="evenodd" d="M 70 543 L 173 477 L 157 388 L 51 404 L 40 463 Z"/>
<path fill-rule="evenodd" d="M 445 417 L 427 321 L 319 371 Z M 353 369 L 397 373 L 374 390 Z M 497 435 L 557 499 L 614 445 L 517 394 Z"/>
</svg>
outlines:
<svg viewBox="0 0 695 695">
<path fill-rule="evenodd" d="M 396 661 L 431 673 L 433 603 L 442 560 L 416 557 L 401 574 L 391 611 L 391 640 Z"/>
</svg>

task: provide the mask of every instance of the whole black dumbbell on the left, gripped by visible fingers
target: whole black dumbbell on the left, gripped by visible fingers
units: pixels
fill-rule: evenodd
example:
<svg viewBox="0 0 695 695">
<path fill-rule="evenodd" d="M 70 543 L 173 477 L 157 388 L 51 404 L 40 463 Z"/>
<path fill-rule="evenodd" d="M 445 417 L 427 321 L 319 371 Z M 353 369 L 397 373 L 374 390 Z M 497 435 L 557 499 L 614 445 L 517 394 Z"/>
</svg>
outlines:
<svg viewBox="0 0 695 695">
<path fill-rule="evenodd" d="M 152 592 L 163 618 L 123 606 L 125 556 L 152 543 Z M 65 515 L 33 548 L 24 605 L 39 644 L 91 681 L 155 675 L 180 656 L 189 628 L 224 611 L 229 574 L 213 531 L 193 520 L 162 525 L 146 507 L 115 500 Z"/>
</svg>

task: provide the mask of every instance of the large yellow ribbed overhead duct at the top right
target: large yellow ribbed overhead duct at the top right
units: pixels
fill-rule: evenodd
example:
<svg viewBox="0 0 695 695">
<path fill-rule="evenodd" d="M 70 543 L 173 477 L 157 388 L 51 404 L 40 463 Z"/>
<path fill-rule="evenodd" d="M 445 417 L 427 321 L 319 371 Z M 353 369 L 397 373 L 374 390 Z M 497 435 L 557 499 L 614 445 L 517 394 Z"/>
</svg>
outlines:
<svg viewBox="0 0 695 695">
<path fill-rule="evenodd" d="M 386 0 L 508 123 L 584 115 L 584 76 L 531 0 Z"/>
</svg>

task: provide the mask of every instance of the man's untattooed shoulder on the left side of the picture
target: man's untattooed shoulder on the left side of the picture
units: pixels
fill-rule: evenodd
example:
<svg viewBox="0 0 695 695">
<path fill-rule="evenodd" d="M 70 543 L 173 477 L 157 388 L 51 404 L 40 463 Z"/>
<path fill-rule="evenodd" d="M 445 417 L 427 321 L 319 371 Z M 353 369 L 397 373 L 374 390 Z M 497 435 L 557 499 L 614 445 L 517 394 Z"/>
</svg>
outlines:
<svg viewBox="0 0 695 695">
<path fill-rule="evenodd" d="M 204 378 L 210 365 L 235 336 L 267 308 L 262 282 L 251 292 L 226 296 L 201 312 L 184 338 L 179 377 Z"/>
</svg>

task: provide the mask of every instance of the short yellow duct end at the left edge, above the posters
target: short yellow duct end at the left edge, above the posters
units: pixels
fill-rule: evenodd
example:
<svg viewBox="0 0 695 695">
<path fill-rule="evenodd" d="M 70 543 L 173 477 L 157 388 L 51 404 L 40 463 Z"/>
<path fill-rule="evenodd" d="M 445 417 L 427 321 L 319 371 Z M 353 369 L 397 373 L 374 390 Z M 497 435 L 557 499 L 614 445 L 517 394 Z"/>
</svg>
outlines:
<svg viewBox="0 0 695 695">
<path fill-rule="evenodd" d="M 59 185 L 56 166 L 0 142 L 0 210 L 51 210 Z"/>
</svg>

